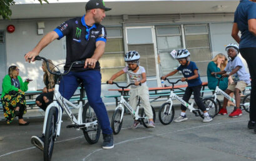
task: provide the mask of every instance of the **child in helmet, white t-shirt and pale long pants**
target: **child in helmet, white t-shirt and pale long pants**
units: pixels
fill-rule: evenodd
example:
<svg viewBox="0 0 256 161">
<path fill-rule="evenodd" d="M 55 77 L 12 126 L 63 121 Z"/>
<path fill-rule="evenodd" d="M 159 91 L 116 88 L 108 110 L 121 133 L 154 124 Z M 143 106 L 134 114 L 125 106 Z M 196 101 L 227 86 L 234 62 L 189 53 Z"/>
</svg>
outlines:
<svg viewBox="0 0 256 161">
<path fill-rule="evenodd" d="M 113 80 L 122 74 L 128 74 L 131 83 L 135 85 L 131 85 L 130 90 L 130 105 L 131 107 L 136 107 L 138 104 L 138 96 L 140 96 L 140 100 L 142 103 L 142 107 L 144 107 L 145 113 L 149 118 L 148 127 L 155 127 L 155 123 L 153 121 L 153 112 L 150 106 L 150 99 L 148 93 L 148 86 L 146 85 L 146 71 L 145 68 L 140 66 L 140 54 L 136 51 L 129 51 L 125 54 L 125 62 L 127 62 L 128 66 L 122 69 L 119 72 L 116 72 L 110 80 L 108 80 L 108 84 L 113 84 Z M 139 85 L 141 83 L 141 86 Z M 134 120 L 133 129 L 136 129 L 140 125 L 138 120 Z"/>
</svg>

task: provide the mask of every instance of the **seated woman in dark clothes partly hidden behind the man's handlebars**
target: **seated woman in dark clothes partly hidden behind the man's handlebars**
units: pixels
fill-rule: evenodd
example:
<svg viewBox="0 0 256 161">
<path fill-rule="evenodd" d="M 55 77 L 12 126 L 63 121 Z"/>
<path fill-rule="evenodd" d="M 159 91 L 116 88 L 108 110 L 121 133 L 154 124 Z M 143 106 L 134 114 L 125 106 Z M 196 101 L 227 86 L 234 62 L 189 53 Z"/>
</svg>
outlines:
<svg viewBox="0 0 256 161">
<path fill-rule="evenodd" d="M 53 62 L 51 60 L 48 61 L 50 70 L 56 72 L 54 71 L 55 66 L 53 65 Z M 51 102 L 53 102 L 54 85 L 56 83 L 57 76 L 54 76 L 53 74 L 49 73 L 45 61 L 43 61 L 42 63 L 42 69 L 44 72 L 43 81 L 46 87 L 43 88 L 43 94 L 40 94 L 38 95 L 38 97 L 36 97 L 36 104 L 38 105 L 38 107 L 45 111 L 48 105 L 51 104 Z"/>
</svg>

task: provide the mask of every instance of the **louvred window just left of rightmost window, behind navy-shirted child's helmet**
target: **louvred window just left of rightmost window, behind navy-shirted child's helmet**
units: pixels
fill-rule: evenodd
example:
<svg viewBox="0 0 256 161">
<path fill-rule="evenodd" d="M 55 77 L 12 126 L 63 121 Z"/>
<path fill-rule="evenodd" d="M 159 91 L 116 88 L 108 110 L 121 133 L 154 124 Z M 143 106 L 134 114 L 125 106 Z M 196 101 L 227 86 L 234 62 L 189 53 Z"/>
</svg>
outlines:
<svg viewBox="0 0 256 161">
<path fill-rule="evenodd" d="M 173 59 L 170 52 L 173 49 L 182 48 L 182 34 L 180 26 L 156 27 L 156 40 L 158 46 L 158 57 L 160 58 L 160 76 L 165 76 L 171 71 L 177 69 L 179 63 Z M 172 77 L 181 76 L 177 72 Z"/>
</svg>

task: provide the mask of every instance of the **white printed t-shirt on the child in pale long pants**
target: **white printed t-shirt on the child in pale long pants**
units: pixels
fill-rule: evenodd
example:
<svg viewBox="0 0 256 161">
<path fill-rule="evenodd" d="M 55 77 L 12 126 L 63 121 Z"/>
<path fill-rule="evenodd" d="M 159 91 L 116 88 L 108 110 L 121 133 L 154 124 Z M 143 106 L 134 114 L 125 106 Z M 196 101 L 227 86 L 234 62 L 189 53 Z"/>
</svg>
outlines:
<svg viewBox="0 0 256 161">
<path fill-rule="evenodd" d="M 139 69 L 138 69 L 138 71 L 136 73 L 131 71 L 131 70 L 129 70 L 128 66 L 126 66 L 123 69 L 123 71 L 126 72 L 126 74 L 128 74 L 128 78 L 129 78 L 131 83 L 134 83 L 135 80 L 136 81 L 142 80 L 142 74 L 143 74 L 143 72 L 146 72 L 145 68 L 142 67 L 142 66 L 139 66 Z M 146 82 L 141 83 L 141 85 L 146 85 Z M 138 87 L 138 85 L 131 85 L 131 88 L 136 88 L 136 87 Z"/>
</svg>

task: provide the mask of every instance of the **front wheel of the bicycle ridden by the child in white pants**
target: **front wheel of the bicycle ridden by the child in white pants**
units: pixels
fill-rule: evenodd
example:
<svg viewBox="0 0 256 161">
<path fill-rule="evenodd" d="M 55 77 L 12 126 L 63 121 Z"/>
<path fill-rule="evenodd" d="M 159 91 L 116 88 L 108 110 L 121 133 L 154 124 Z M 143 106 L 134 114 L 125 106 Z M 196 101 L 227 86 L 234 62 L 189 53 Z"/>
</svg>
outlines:
<svg viewBox="0 0 256 161">
<path fill-rule="evenodd" d="M 121 109 L 116 109 L 111 120 L 113 134 L 118 134 L 121 130 L 123 119 L 121 120 Z"/>
</svg>

